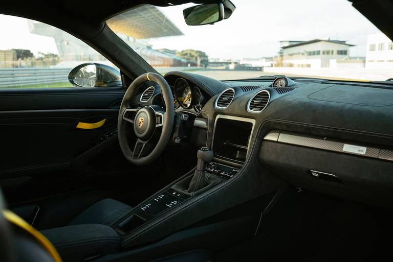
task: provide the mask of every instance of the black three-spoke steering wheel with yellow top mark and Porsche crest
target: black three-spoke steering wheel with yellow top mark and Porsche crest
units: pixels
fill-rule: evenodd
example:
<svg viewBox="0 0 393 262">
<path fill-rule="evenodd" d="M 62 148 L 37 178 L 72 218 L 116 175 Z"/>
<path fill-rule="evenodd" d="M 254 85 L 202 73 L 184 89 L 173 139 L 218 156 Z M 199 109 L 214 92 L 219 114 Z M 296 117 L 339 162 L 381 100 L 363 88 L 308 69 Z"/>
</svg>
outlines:
<svg viewBox="0 0 393 262">
<path fill-rule="evenodd" d="M 140 105 L 133 106 L 130 103 L 141 84 L 146 81 L 154 81 L 160 86 L 165 110 L 157 105 L 139 108 Z M 120 148 L 125 158 L 136 165 L 145 165 L 156 160 L 168 144 L 172 133 L 173 119 L 173 94 L 166 80 L 155 73 L 145 73 L 135 79 L 124 94 L 117 123 Z M 133 132 L 137 137 L 133 146 L 130 146 L 129 141 L 130 124 L 133 125 Z M 160 138 L 156 142 L 152 138 L 158 136 L 158 129 L 162 130 Z"/>
</svg>

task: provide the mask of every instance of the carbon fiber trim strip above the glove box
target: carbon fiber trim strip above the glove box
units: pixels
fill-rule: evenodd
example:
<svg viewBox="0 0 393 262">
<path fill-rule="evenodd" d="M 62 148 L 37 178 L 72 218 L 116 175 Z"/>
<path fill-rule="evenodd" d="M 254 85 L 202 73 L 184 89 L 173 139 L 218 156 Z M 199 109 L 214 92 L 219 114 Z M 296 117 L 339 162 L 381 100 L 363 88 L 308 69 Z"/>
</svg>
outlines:
<svg viewBox="0 0 393 262">
<path fill-rule="evenodd" d="M 392 150 L 380 149 L 378 147 L 363 145 L 361 143 L 354 144 L 354 142 L 347 142 L 347 141 L 332 139 L 328 137 L 273 130 L 264 137 L 264 140 L 277 141 L 284 144 L 296 145 L 301 147 L 334 151 L 343 154 L 351 154 L 351 155 L 358 155 L 358 156 L 365 156 L 365 157 L 393 161 Z M 353 147 L 355 149 L 359 149 L 359 151 L 344 150 L 345 147 Z"/>
</svg>

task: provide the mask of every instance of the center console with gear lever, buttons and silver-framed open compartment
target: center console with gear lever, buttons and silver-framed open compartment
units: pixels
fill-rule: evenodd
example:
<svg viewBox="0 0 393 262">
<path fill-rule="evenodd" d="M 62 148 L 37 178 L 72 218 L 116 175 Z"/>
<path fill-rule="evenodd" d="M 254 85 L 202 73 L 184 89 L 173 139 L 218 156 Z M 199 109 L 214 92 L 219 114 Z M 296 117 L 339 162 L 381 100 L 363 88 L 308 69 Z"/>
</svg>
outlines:
<svg viewBox="0 0 393 262">
<path fill-rule="evenodd" d="M 212 139 L 212 150 L 198 151 L 197 168 L 147 199 L 121 221 L 115 230 L 127 235 L 148 221 L 207 190 L 233 179 L 249 153 L 250 138 L 255 121 L 227 115 L 217 115 Z"/>
</svg>

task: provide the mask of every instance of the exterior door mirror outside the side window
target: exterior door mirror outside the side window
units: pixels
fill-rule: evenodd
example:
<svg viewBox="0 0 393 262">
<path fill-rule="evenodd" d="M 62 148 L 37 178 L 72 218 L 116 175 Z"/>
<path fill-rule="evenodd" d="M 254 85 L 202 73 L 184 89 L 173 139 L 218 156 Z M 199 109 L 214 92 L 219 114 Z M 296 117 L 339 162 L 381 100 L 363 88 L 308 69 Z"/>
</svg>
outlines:
<svg viewBox="0 0 393 262">
<path fill-rule="evenodd" d="M 68 80 L 75 87 L 121 86 L 120 70 L 105 64 L 85 63 L 74 67 Z"/>
</svg>

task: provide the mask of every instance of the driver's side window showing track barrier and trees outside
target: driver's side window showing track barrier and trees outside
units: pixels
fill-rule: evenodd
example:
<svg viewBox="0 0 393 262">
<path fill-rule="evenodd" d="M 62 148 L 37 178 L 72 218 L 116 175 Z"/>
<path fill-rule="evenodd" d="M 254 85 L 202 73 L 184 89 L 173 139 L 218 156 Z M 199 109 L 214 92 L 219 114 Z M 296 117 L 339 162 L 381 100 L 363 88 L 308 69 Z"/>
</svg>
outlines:
<svg viewBox="0 0 393 262">
<path fill-rule="evenodd" d="M 46 23 L 0 15 L 0 35 L 0 89 L 93 87 L 98 81 L 94 81 L 97 72 L 106 73 L 106 69 L 113 74 L 112 80 L 120 81 L 119 69 L 105 57 L 78 38 Z M 83 82 L 85 85 L 71 84 L 71 69 L 85 63 L 89 65 L 80 66 L 75 81 L 83 82 L 80 77 L 86 75 L 90 80 Z M 97 70 L 92 69 L 94 65 Z"/>
</svg>

